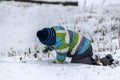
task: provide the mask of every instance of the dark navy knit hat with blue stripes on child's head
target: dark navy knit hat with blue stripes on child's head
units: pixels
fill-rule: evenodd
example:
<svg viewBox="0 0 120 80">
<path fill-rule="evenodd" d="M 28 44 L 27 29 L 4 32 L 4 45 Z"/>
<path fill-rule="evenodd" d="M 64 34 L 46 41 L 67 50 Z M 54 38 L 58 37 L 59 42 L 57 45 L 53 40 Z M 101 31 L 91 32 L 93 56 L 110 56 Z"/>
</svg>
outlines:
<svg viewBox="0 0 120 80">
<path fill-rule="evenodd" d="M 54 45 L 56 42 L 56 34 L 53 28 L 43 28 L 37 32 L 37 37 L 44 45 Z"/>
</svg>

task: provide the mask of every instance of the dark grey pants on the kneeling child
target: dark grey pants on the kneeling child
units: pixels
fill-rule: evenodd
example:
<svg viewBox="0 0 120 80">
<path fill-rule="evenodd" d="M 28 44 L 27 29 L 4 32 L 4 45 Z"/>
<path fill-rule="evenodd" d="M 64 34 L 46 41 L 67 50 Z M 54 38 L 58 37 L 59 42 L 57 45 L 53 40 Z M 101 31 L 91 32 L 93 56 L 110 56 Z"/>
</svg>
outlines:
<svg viewBox="0 0 120 80">
<path fill-rule="evenodd" d="M 92 64 L 92 61 L 93 61 L 92 56 L 93 56 L 92 46 L 90 46 L 83 54 L 73 55 L 71 63 Z"/>
</svg>

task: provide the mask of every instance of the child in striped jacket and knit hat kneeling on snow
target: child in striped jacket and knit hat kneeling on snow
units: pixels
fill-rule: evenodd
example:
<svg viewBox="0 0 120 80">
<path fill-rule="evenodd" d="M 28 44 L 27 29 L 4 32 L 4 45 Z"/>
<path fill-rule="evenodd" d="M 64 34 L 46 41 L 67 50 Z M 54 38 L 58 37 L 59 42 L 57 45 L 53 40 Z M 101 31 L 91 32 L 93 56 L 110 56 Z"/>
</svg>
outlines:
<svg viewBox="0 0 120 80">
<path fill-rule="evenodd" d="M 74 31 L 65 30 L 61 26 L 43 28 L 37 32 L 37 37 L 47 46 L 45 52 L 51 49 L 56 51 L 56 63 L 63 63 L 66 57 L 72 57 L 71 63 L 106 66 L 113 62 L 111 55 L 102 59 L 93 59 L 91 40 Z"/>
</svg>

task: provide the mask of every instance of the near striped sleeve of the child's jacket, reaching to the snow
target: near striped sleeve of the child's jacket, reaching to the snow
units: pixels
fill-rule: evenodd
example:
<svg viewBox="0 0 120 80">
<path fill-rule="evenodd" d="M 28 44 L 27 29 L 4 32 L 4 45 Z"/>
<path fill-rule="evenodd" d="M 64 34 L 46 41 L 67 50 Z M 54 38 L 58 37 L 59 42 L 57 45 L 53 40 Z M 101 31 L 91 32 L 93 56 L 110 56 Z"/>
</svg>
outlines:
<svg viewBox="0 0 120 80">
<path fill-rule="evenodd" d="M 55 26 L 53 27 L 56 32 L 56 44 L 54 49 L 56 50 L 56 61 L 62 63 L 67 57 L 67 52 L 69 49 L 69 42 L 67 41 L 68 34 L 63 27 Z"/>
</svg>

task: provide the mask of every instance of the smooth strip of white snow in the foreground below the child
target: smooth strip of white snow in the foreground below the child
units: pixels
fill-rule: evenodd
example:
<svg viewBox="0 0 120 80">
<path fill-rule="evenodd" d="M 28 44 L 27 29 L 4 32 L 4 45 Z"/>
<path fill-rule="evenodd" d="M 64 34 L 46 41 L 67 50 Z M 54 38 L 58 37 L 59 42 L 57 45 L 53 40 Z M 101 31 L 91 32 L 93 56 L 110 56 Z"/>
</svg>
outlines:
<svg viewBox="0 0 120 80">
<path fill-rule="evenodd" d="M 9 61 L 7 61 L 9 60 Z M 27 63 L 16 58 L 0 60 L 0 79 L 4 80 L 119 80 L 119 69 L 82 64 L 48 64 L 30 60 Z"/>
</svg>

